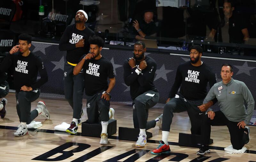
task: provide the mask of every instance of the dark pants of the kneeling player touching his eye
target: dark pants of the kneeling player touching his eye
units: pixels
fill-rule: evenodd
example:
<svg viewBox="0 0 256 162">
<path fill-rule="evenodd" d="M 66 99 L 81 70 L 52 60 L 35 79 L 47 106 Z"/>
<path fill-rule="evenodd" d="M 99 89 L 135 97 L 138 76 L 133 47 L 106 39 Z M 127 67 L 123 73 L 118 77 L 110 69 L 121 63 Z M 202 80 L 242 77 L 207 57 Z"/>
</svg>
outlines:
<svg viewBox="0 0 256 162">
<path fill-rule="evenodd" d="M 29 124 L 38 116 L 36 109 L 31 111 L 31 102 L 35 101 L 40 95 L 40 89 L 36 91 L 20 91 L 16 92 L 16 109 L 20 118 L 20 122 L 26 122 Z M 31 111 L 31 112 L 30 112 Z"/>
</svg>

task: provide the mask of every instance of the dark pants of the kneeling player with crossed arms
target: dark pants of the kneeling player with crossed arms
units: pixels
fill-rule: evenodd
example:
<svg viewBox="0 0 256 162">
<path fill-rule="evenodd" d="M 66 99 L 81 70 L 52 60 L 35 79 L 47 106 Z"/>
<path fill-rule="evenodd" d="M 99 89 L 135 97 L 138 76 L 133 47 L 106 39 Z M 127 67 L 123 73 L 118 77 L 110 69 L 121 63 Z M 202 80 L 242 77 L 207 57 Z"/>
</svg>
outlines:
<svg viewBox="0 0 256 162">
<path fill-rule="evenodd" d="M 154 95 L 154 96 L 150 96 Z M 134 128 L 139 129 L 150 129 L 156 126 L 156 121 L 148 121 L 148 109 L 156 105 L 159 100 L 159 92 L 149 90 L 138 97 L 136 97 L 132 102 L 133 108 L 133 125 Z"/>
</svg>

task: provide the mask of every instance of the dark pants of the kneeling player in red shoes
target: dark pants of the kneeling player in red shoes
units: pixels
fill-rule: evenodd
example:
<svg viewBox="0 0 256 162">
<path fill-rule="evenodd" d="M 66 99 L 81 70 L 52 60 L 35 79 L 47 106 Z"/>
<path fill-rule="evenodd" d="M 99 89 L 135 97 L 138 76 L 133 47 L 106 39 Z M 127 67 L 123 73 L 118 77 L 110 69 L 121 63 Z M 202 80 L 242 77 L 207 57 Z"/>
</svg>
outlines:
<svg viewBox="0 0 256 162">
<path fill-rule="evenodd" d="M 177 95 L 176 95 L 177 96 Z M 201 112 L 197 106 L 203 104 L 203 100 L 186 100 L 179 94 L 179 98 L 172 98 L 164 105 L 162 130 L 170 131 L 173 113 L 180 113 L 187 111 L 191 123 L 191 134 L 200 135 L 201 119 L 205 112 Z"/>
</svg>

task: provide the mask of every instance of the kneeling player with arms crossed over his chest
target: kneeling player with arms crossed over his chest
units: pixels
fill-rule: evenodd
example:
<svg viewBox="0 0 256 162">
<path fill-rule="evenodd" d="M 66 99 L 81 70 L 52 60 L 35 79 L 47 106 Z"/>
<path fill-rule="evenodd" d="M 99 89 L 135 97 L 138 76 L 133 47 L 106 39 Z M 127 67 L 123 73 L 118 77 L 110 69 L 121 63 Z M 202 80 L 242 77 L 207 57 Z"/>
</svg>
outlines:
<svg viewBox="0 0 256 162">
<path fill-rule="evenodd" d="M 146 130 L 161 126 L 162 115 L 155 120 L 148 120 L 148 109 L 156 105 L 159 92 L 153 81 L 156 72 L 156 61 L 145 55 L 146 47 L 142 41 L 134 44 L 134 58 L 124 61 L 124 82 L 130 86 L 133 108 L 134 128 L 140 129 L 136 147 L 144 147 L 147 143 Z"/>
</svg>

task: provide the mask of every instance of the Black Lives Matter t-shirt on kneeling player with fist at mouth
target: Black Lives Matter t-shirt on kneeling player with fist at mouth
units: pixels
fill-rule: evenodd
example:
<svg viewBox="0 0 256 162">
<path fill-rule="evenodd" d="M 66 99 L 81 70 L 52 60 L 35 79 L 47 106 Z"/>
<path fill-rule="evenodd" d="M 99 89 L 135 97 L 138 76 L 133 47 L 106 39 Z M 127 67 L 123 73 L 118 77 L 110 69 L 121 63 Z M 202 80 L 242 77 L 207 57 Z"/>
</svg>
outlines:
<svg viewBox="0 0 256 162">
<path fill-rule="evenodd" d="M 107 90 L 108 78 L 115 77 L 112 63 L 104 56 L 99 60 L 85 60 L 81 71 L 84 72 L 85 94 L 90 96 L 101 90 Z"/>
</svg>

